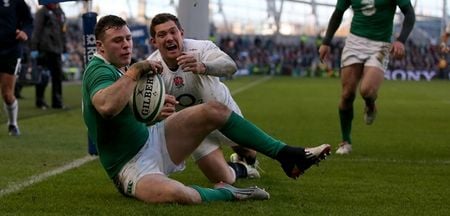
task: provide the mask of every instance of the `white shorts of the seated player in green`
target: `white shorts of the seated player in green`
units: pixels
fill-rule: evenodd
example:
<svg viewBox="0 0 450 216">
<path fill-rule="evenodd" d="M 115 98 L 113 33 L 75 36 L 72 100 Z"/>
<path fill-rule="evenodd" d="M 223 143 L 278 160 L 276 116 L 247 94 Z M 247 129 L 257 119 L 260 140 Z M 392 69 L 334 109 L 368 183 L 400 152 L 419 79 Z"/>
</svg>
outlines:
<svg viewBox="0 0 450 216">
<path fill-rule="evenodd" d="M 169 175 L 182 171 L 185 163 L 176 165 L 167 151 L 164 121 L 148 128 L 149 137 L 142 149 L 120 170 L 114 178 L 117 189 L 126 196 L 135 195 L 136 183 L 148 174 Z"/>
</svg>

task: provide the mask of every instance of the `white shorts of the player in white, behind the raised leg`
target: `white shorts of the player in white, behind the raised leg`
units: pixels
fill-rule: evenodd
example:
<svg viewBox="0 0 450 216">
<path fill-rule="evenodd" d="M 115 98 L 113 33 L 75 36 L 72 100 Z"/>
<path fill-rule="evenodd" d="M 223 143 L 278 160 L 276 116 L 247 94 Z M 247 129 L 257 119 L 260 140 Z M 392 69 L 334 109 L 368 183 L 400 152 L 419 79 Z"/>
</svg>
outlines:
<svg viewBox="0 0 450 216">
<path fill-rule="evenodd" d="M 231 110 L 233 110 L 235 113 L 242 116 L 242 112 L 239 109 L 239 106 L 237 103 L 233 100 L 231 97 L 231 94 L 228 94 L 229 97 L 227 99 L 227 106 Z M 202 141 L 202 143 L 195 149 L 195 151 L 192 153 L 192 158 L 194 161 L 199 160 L 200 158 L 208 155 L 209 153 L 213 152 L 214 150 L 218 149 L 221 145 L 227 145 L 227 146 L 237 146 L 236 143 L 228 139 L 226 136 L 224 136 L 220 131 L 215 130 L 212 133 L 210 133 L 206 138 Z"/>
</svg>

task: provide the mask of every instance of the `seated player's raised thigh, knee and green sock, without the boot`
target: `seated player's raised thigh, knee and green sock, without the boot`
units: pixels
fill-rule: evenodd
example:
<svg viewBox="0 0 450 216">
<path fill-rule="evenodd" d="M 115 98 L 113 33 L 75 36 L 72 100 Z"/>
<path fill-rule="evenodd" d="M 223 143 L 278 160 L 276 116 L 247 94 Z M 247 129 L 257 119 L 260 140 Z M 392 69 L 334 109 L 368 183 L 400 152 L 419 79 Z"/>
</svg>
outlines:
<svg viewBox="0 0 450 216">
<path fill-rule="evenodd" d="M 167 149 L 175 164 L 184 161 L 208 134 L 218 128 L 235 143 L 272 158 L 286 146 L 218 102 L 183 109 L 166 119 L 165 128 Z"/>
</svg>

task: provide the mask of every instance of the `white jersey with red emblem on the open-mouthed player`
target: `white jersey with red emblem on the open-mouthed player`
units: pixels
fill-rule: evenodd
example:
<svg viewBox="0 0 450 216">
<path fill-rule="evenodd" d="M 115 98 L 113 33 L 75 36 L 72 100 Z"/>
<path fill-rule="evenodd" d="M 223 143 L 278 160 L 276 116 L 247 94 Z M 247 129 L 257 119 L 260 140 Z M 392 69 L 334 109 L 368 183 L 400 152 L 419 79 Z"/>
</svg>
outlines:
<svg viewBox="0 0 450 216">
<path fill-rule="evenodd" d="M 221 61 L 221 64 L 235 65 L 231 57 L 221 51 L 211 41 L 184 39 L 184 52 L 198 53 L 199 60 L 205 64 L 207 64 L 209 59 L 225 57 L 228 59 Z M 175 96 L 177 101 L 179 101 L 179 104 L 176 106 L 177 111 L 196 104 L 216 100 L 240 113 L 228 87 L 220 81 L 219 77 L 184 72 L 181 67 L 176 71 L 171 71 L 163 61 L 158 50 L 153 52 L 148 59 L 162 63 L 163 72 L 161 75 L 166 87 L 166 93 Z M 220 65 L 216 66 L 225 68 L 220 67 Z M 233 74 L 234 72 L 228 72 L 228 74 Z"/>
</svg>

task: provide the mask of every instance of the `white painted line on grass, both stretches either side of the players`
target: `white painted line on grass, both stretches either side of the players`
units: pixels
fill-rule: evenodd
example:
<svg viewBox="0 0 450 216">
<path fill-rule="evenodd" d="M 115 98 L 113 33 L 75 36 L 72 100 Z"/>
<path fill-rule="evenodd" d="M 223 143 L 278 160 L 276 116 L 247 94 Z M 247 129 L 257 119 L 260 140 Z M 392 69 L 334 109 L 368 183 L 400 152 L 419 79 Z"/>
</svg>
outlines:
<svg viewBox="0 0 450 216">
<path fill-rule="evenodd" d="M 232 94 L 237 94 L 239 92 L 245 91 L 245 90 L 247 90 L 249 88 L 252 88 L 253 86 L 256 86 L 256 85 L 258 85 L 260 83 L 263 83 L 263 82 L 269 80 L 270 78 L 271 77 L 263 77 L 261 79 L 258 79 L 256 81 L 250 83 L 247 86 L 244 86 L 244 87 L 236 89 L 235 91 L 232 92 Z M 69 164 L 66 164 L 64 166 L 58 167 L 58 168 L 56 168 L 54 170 L 50 170 L 48 172 L 45 172 L 45 173 L 42 173 L 42 174 L 39 174 L 39 175 L 31 176 L 30 178 L 28 178 L 27 180 L 25 180 L 23 182 L 10 184 L 6 188 L 0 190 L 0 198 L 3 197 L 3 196 L 8 195 L 10 193 L 14 193 L 14 192 L 20 191 L 20 190 L 22 190 L 25 187 L 28 187 L 30 185 L 33 185 L 33 184 L 36 184 L 38 182 L 44 181 L 45 179 L 47 179 L 49 177 L 61 174 L 61 173 L 65 172 L 65 171 L 71 170 L 73 168 L 80 167 L 80 166 L 84 165 L 85 163 L 87 163 L 89 161 L 93 161 L 95 159 L 97 159 L 97 156 L 89 156 L 88 155 L 88 156 L 85 156 L 83 158 L 76 159 L 76 160 L 70 162 Z"/>
</svg>

